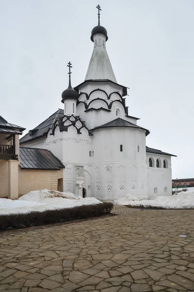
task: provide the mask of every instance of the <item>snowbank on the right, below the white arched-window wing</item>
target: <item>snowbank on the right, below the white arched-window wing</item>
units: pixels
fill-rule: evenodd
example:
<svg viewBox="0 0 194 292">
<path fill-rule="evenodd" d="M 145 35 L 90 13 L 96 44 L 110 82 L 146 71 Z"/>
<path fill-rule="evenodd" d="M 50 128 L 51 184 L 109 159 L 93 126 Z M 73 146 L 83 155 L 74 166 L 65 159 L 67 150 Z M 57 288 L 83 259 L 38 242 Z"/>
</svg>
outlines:
<svg viewBox="0 0 194 292">
<path fill-rule="evenodd" d="M 132 196 L 126 195 L 113 201 L 115 205 L 130 205 L 145 208 L 155 207 L 164 209 L 194 209 L 194 187 L 188 188 L 186 192 L 182 191 L 178 195 L 157 196 L 148 198 L 148 200 L 139 201 Z"/>
</svg>

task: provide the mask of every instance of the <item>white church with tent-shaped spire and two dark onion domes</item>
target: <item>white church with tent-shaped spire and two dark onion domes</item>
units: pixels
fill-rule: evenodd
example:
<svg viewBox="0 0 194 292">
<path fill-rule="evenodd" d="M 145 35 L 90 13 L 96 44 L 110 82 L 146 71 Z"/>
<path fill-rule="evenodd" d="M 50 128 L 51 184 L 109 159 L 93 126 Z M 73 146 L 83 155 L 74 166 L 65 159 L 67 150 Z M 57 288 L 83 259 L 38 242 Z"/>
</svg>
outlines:
<svg viewBox="0 0 194 292">
<path fill-rule="evenodd" d="M 60 191 L 101 201 L 128 194 L 140 200 L 171 195 L 175 155 L 146 146 L 150 132 L 128 112 L 127 87 L 116 81 L 99 5 L 97 9 L 98 24 L 91 33 L 94 49 L 84 81 L 72 88 L 69 62 L 63 109 L 22 137 L 20 147 L 47 149 L 60 160 Z"/>
</svg>

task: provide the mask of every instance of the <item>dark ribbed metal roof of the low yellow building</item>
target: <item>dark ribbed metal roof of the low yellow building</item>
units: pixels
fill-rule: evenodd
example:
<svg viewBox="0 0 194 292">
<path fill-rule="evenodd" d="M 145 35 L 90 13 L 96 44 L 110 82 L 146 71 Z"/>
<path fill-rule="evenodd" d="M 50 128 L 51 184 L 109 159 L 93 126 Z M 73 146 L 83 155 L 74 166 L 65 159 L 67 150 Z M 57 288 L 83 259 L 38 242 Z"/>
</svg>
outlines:
<svg viewBox="0 0 194 292">
<path fill-rule="evenodd" d="M 61 161 L 47 149 L 19 148 L 20 167 L 22 169 L 50 169 L 65 168 Z"/>
</svg>

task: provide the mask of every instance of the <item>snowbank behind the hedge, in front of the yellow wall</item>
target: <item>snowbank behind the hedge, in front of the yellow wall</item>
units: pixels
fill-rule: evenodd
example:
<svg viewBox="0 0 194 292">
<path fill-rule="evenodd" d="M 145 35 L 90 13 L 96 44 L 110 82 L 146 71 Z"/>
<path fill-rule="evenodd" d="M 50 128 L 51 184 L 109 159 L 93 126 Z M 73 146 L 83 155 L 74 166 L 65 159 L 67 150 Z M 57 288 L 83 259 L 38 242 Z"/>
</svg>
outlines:
<svg viewBox="0 0 194 292">
<path fill-rule="evenodd" d="M 0 215 L 29 213 L 72 208 L 82 205 L 101 203 L 96 198 L 82 198 L 72 193 L 49 191 L 48 189 L 32 191 L 18 200 L 0 199 Z"/>
</svg>

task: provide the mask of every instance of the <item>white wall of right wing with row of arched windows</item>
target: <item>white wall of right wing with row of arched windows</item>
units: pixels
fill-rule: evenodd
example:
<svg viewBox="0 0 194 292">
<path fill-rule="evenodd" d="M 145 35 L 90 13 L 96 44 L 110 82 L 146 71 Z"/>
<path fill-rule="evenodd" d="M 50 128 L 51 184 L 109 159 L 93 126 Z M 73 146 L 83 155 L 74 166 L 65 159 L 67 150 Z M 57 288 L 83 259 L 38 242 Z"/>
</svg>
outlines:
<svg viewBox="0 0 194 292">
<path fill-rule="evenodd" d="M 153 167 L 149 167 L 149 158 L 152 159 Z M 159 166 L 156 167 L 156 160 L 159 159 Z M 163 168 L 163 160 L 166 161 L 166 168 Z M 172 195 L 172 169 L 171 156 L 146 153 L 147 162 L 147 195 Z"/>
</svg>

